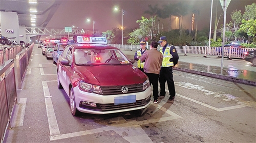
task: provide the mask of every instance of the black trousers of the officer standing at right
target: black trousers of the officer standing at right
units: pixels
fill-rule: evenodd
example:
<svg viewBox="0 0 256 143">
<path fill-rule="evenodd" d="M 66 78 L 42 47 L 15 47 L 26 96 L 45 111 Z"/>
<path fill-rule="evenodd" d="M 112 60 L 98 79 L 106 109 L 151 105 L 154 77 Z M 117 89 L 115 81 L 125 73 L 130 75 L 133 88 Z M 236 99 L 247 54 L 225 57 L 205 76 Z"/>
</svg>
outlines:
<svg viewBox="0 0 256 143">
<path fill-rule="evenodd" d="M 175 86 L 173 79 L 173 67 L 161 67 L 159 75 L 160 83 L 160 94 L 165 96 L 165 82 L 167 81 L 167 86 L 169 90 L 170 97 L 175 96 Z"/>
</svg>

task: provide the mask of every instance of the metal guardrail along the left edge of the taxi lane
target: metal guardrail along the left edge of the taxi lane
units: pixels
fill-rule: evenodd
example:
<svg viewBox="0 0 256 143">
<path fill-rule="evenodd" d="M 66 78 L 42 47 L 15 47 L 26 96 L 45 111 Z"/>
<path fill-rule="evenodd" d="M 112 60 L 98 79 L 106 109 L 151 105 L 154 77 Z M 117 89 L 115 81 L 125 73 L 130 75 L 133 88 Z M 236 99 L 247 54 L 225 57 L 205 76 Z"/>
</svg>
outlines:
<svg viewBox="0 0 256 143">
<path fill-rule="evenodd" d="M 17 103 L 17 89 L 21 89 L 22 81 L 29 64 L 29 59 L 34 43 L 26 49 L 18 52 L 18 48 L 11 47 L 6 50 L 8 56 L 4 61 L 4 50 L 0 49 L 0 58 L 3 64 L 0 65 L 0 140 L 3 142 L 6 130 L 9 126 L 12 110 Z M 20 47 L 21 49 L 21 47 Z M 14 55 L 17 53 L 16 55 Z M 1 59 L 0 59 L 1 60 Z"/>
</svg>

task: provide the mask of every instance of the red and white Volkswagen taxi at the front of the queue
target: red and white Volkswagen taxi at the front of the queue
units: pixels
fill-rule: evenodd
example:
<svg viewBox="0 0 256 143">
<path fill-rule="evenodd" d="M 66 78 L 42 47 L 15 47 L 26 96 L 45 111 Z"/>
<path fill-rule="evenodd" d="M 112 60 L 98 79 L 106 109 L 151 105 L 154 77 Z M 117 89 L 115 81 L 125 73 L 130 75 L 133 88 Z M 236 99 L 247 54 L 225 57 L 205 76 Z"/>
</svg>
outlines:
<svg viewBox="0 0 256 143">
<path fill-rule="evenodd" d="M 57 62 L 58 88 L 79 112 L 106 114 L 146 108 L 151 101 L 148 77 L 105 37 L 77 37 Z"/>
</svg>

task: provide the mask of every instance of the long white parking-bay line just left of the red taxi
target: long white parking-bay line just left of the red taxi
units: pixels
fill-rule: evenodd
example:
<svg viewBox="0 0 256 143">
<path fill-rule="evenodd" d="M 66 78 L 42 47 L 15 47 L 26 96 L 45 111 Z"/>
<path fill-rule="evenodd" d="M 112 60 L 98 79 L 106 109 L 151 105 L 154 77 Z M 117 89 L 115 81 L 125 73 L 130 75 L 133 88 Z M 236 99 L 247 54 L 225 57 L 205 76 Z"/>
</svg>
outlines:
<svg viewBox="0 0 256 143">
<path fill-rule="evenodd" d="M 53 80 L 56 81 L 56 80 Z M 50 97 L 50 91 L 47 85 L 47 81 L 42 81 L 42 87 L 44 88 L 44 96 L 46 103 L 46 112 L 49 124 L 50 135 L 60 135 L 59 126 L 53 109 L 52 99 Z"/>
</svg>

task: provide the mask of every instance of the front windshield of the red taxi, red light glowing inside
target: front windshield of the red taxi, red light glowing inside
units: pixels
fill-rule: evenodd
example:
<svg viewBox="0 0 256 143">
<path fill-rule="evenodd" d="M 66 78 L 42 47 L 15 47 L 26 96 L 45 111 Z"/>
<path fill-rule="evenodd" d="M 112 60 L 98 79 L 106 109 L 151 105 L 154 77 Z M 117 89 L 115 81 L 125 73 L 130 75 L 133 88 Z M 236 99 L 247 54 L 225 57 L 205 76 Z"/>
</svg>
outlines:
<svg viewBox="0 0 256 143">
<path fill-rule="evenodd" d="M 130 64 L 126 56 L 116 49 L 76 49 L 76 65 Z"/>
</svg>

